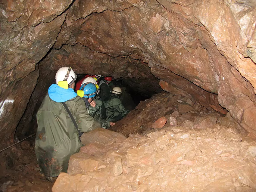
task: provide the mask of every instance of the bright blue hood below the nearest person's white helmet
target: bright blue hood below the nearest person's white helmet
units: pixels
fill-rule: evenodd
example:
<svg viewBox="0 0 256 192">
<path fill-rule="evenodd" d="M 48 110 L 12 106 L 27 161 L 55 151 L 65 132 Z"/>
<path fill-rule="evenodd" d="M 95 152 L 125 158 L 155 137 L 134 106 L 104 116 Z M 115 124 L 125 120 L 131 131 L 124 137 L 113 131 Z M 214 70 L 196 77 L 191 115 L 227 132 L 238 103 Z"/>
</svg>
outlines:
<svg viewBox="0 0 256 192">
<path fill-rule="evenodd" d="M 64 89 L 57 84 L 52 84 L 48 89 L 49 97 L 58 103 L 68 101 L 77 96 L 71 88 Z"/>
</svg>

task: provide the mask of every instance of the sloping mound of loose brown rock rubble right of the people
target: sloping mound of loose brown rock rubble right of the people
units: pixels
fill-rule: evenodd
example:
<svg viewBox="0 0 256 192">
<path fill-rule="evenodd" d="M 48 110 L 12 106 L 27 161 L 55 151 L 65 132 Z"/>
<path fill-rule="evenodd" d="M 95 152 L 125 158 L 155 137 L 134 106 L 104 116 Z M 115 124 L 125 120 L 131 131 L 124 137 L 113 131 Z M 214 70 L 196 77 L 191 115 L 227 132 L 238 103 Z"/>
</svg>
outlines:
<svg viewBox="0 0 256 192">
<path fill-rule="evenodd" d="M 86 145 L 71 156 L 68 172 L 59 175 L 53 192 L 255 191 L 256 141 L 229 114 L 224 117 L 193 102 L 188 105 L 196 109 L 184 114 L 178 110 L 183 103 L 174 102 L 168 112 L 166 105 L 160 109 L 152 104 L 167 98 L 158 94 L 142 103 L 148 107 L 140 113 L 134 110 L 123 119 L 129 120 L 125 127 L 136 121 L 140 127 L 140 118 L 154 111 L 154 118 L 147 116 L 153 123 L 169 116 L 163 128 L 149 125 L 128 138 L 105 129 L 84 134 Z M 133 122 L 132 113 L 138 115 Z"/>
</svg>

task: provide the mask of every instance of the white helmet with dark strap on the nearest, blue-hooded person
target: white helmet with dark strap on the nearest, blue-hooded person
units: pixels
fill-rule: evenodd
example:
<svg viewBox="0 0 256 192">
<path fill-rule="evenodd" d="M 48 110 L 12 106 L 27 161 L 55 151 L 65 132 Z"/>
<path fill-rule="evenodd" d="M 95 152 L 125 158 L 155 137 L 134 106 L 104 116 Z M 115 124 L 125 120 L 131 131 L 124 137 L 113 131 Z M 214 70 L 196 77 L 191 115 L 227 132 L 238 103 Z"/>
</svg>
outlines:
<svg viewBox="0 0 256 192">
<path fill-rule="evenodd" d="M 68 87 L 76 81 L 76 73 L 71 67 L 61 67 L 55 75 L 56 83 L 59 84 L 59 81 L 67 81 Z"/>
</svg>

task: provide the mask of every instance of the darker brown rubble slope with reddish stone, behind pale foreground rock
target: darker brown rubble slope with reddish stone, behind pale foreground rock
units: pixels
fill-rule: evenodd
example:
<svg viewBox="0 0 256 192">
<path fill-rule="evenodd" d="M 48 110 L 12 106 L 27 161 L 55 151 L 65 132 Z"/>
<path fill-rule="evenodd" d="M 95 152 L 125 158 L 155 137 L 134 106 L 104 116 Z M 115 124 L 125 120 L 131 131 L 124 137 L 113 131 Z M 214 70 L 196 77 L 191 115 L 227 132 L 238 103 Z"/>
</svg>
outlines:
<svg viewBox="0 0 256 192">
<path fill-rule="evenodd" d="M 207 116 L 208 114 L 212 115 Z M 165 92 L 141 101 L 135 110 L 128 113 L 125 119 L 118 121 L 114 127 L 110 127 L 110 130 L 120 132 L 127 137 L 130 133 L 141 134 L 154 126 L 162 128 L 170 125 L 186 125 L 189 128 L 193 126 L 199 128 L 204 125 L 215 125 L 217 118 L 222 116 L 224 115 L 221 113 L 201 106 L 191 97 Z M 233 123 L 233 127 L 239 127 L 243 133 L 246 132 L 238 123 L 235 123 L 230 114 L 228 118 L 230 124 Z"/>
</svg>

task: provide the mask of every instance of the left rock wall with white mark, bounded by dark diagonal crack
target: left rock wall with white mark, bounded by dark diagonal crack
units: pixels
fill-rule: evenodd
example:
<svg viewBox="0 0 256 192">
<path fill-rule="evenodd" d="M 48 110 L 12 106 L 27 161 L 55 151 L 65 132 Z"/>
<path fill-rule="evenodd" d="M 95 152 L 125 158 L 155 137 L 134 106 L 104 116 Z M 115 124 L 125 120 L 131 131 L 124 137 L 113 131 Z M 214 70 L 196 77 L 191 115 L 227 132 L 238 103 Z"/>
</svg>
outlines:
<svg viewBox="0 0 256 192">
<path fill-rule="evenodd" d="M 72 1 L 0 4 L 0 139 L 14 135 L 36 85 L 41 60 L 55 43 Z M 3 140 L 4 139 L 4 140 Z"/>
</svg>

